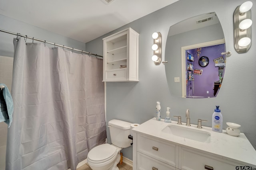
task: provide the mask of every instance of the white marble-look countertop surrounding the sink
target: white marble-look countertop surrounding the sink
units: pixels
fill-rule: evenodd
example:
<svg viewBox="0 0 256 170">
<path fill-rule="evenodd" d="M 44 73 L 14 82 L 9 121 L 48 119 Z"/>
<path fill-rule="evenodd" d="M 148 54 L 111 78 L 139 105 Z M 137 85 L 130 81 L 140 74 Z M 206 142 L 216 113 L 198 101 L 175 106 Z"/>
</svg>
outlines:
<svg viewBox="0 0 256 170">
<path fill-rule="evenodd" d="M 196 129 L 199 131 L 206 131 L 211 134 L 211 141 L 210 143 L 203 143 L 162 132 L 162 129 L 170 124 Z M 191 124 L 191 126 L 186 126 L 186 123 L 178 125 L 177 121 L 165 123 L 164 119 L 157 121 L 156 118 L 152 118 L 142 123 L 138 127 L 133 128 L 132 131 L 157 137 L 165 141 L 170 141 L 180 146 L 187 146 L 194 149 L 199 149 L 203 152 L 210 152 L 216 156 L 221 156 L 222 158 L 228 160 L 238 160 L 244 162 L 244 164 L 248 166 L 256 166 L 256 150 L 252 147 L 244 133 L 240 133 L 238 137 L 234 137 L 228 135 L 225 130 L 223 130 L 222 133 L 218 133 L 212 131 L 211 127 L 202 126 L 203 128 L 199 129 L 196 126 L 197 125 L 193 124 Z"/>
</svg>

